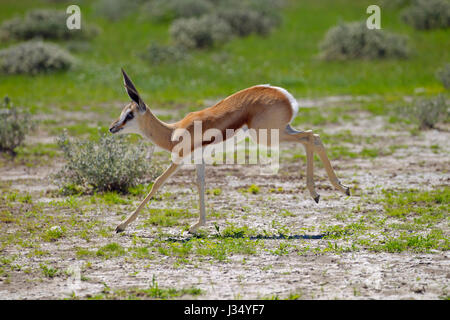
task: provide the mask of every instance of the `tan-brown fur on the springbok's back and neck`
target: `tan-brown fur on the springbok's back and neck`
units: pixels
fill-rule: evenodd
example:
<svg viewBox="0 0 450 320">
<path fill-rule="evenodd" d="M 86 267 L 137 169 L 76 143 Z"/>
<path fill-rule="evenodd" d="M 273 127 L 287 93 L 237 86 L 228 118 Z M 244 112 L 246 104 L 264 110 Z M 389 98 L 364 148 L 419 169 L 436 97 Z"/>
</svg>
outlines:
<svg viewBox="0 0 450 320">
<path fill-rule="evenodd" d="M 122 113 L 131 109 L 138 114 L 138 106 L 131 102 L 123 109 Z M 226 130 L 237 130 L 247 125 L 249 129 L 280 129 L 283 135 L 286 125 L 292 118 L 293 110 L 289 99 L 279 90 L 269 86 L 253 86 L 238 91 L 221 100 L 212 107 L 200 111 L 191 112 L 178 122 L 168 124 L 159 120 L 149 108 L 143 115 L 137 116 L 139 128 L 142 133 L 161 148 L 172 151 L 179 143 L 172 141 L 176 129 L 186 129 L 191 137 L 194 137 L 194 121 L 201 121 L 202 131 L 218 129 L 222 137 L 226 139 Z M 126 125 L 126 121 L 118 125 L 120 118 L 111 124 L 120 129 Z M 228 137 L 229 138 L 229 137 Z M 214 141 L 194 141 L 192 139 L 191 151 L 194 145 L 206 145 Z M 268 136 L 270 142 L 270 134 Z"/>
</svg>

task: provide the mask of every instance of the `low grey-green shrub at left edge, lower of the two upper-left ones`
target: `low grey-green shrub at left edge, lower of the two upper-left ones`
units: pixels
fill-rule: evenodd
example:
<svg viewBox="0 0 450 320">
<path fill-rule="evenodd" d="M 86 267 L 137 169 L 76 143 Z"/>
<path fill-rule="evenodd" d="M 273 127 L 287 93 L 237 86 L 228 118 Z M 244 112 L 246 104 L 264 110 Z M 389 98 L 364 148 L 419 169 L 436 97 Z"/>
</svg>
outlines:
<svg viewBox="0 0 450 320">
<path fill-rule="evenodd" d="M 0 50 L 0 71 L 6 74 L 37 74 L 67 70 L 75 59 L 59 46 L 30 40 Z"/>
</svg>

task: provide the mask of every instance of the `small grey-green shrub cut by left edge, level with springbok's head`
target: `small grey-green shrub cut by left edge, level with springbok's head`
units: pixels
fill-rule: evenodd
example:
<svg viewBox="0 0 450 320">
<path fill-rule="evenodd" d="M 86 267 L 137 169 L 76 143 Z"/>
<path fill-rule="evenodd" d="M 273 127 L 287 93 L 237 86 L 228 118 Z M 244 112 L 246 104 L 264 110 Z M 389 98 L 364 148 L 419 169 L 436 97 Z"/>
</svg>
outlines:
<svg viewBox="0 0 450 320">
<path fill-rule="evenodd" d="M 30 114 L 19 110 L 8 97 L 0 104 L 0 152 L 15 155 L 25 136 L 34 128 Z"/>
</svg>

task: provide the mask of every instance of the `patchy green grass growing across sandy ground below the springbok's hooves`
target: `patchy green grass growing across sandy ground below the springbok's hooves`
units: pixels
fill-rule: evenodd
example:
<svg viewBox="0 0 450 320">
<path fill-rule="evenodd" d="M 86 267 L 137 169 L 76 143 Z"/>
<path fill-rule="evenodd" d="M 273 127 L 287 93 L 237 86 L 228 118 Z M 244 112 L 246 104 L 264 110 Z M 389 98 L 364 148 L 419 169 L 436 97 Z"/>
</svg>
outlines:
<svg viewBox="0 0 450 320">
<path fill-rule="evenodd" d="M 378 193 L 374 194 L 374 190 Z M 110 196 L 107 195 L 107 197 Z M 15 261 L 17 257 L 2 257 L 0 275 L 4 283 L 14 280 L 19 271 L 27 277 L 38 275 L 41 278 L 52 279 L 64 276 L 63 266 L 47 260 L 50 259 L 51 253 L 44 250 L 44 246 L 46 249 L 51 248 L 48 246 L 58 247 L 58 241 L 62 238 L 85 239 L 80 233 L 82 231 L 88 231 L 87 238 L 96 237 L 96 241 L 89 243 L 87 240 L 87 244 L 83 244 L 83 247 L 74 246 L 72 250 L 59 251 L 63 259 L 75 257 L 87 265 L 114 258 L 127 263 L 149 263 L 150 266 L 164 259 L 166 265 L 170 266 L 172 263 L 175 268 L 183 268 L 186 265 L 197 267 L 205 262 L 228 264 L 242 261 L 245 265 L 249 256 L 257 257 L 263 253 L 280 257 L 346 252 L 442 253 L 450 247 L 446 231 L 449 221 L 449 188 L 445 186 L 425 191 L 374 188 L 369 195 L 361 197 L 358 205 L 336 214 L 337 222 L 331 217 L 330 221 L 323 221 L 320 226 L 304 230 L 293 228 L 289 230 L 288 223 L 284 224 L 285 221 L 280 223 L 274 219 L 270 225 L 272 232 L 247 225 L 227 223 L 223 228 L 216 225 L 215 234 L 188 238 L 182 236 L 181 240 L 177 240 L 168 239 L 168 234 L 158 228 L 157 233 L 150 238 L 132 234 L 130 237 L 123 238 L 126 239 L 126 245 L 119 242 L 121 240 L 109 240 L 106 244 L 102 242 L 105 245 L 100 247 L 97 240 L 104 227 L 94 217 L 78 214 L 79 208 L 87 211 L 92 205 L 88 200 L 89 197 L 79 196 L 67 199 L 34 203 L 33 197 L 30 197 L 28 193 L 10 191 L 1 195 L 1 207 L 13 208 L 0 210 L 1 226 L 7 227 L 7 230 L 14 230 L 15 236 L 11 239 L 11 233 L 9 235 L 2 233 L 0 236 L 2 247 L 27 252 L 26 260 L 21 260 L 20 265 Z M 100 203 L 103 204 L 103 202 Z M 122 206 L 123 204 L 115 199 L 109 205 Z M 373 209 L 374 205 L 379 209 Z M 144 221 L 141 221 L 141 224 L 145 224 L 145 219 L 153 214 L 174 218 L 174 225 L 184 225 L 185 222 L 191 222 L 189 219 L 192 218 L 189 211 L 182 209 L 150 210 L 144 212 Z M 51 214 L 47 214 L 49 211 Z M 277 218 L 280 217 L 291 218 L 292 213 L 282 210 Z M 167 225 L 167 222 L 156 225 L 161 227 Z M 60 226 L 60 228 L 53 228 L 53 226 Z M 108 234 L 112 232 L 112 228 L 107 230 Z M 324 236 L 320 240 L 299 240 L 289 237 L 304 234 L 304 232 L 306 234 L 321 233 Z M 265 235 L 268 237 L 266 238 Z M 171 233 L 169 237 L 173 237 L 173 234 Z M 178 236 L 175 237 L 178 238 Z M 42 240 L 49 243 L 42 244 Z M 86 272 L 86 275 L 89 275 L 89 272 Z M 105 288 L 103 292 L 88 298 L 173 299 L 185 296 L 196 297 L 201 294 L 203 291 L 195 287 L 160 287 L 155 280 L 144 288 Z M 292 296 L 292 298 L 296 297 L 295 294 Z"/>
</svg>

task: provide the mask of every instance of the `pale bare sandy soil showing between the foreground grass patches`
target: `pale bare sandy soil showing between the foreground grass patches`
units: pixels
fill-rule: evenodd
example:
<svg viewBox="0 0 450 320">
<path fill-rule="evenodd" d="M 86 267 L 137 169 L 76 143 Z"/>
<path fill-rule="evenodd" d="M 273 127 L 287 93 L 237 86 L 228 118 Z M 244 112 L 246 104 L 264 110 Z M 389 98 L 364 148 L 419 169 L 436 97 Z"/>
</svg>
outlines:
<svg viewBox="0 0 450 320">
<path fill-rule="evenodd" d="M 330 98 L 331 99 L 331 98 Z M 328 102 L 328 101 L 327 101 Z M 133 259 L 113 257 L 108 260 L 92 259 L 83 271 L 88 280 L 77 282 L 70 276 L 43 278 L 38 272 L 23 270 L 9 271 L 9 277 L 0 278 L 1 299 L 61 299 L 69 297 L 75 290 L 80 298 L 90 297 L 102 291 L 105 284 L 110 288 L 126 289 L 148 287 L 156 277 L 161 287 L 203 290 L 201 299 L 259 299 L 286 298 L 297 294 L 305 299 L 438 299 L 448 297 L 450 284 L 450 254 L 434 250 L 427 253 L 405 251 L 401 253 L 371 252 L 325 252 L 299 254 L 298 248 L 307 245 L 323 248 L 328 240 L 321 235 L 319 226 L 339 224 L 336 213 L 345 213 L 355 206 L 365 210 L 381 210 L 377 203 L 366 201 L 376 198 L 382 188 L 430 190 L 448 186 L 450 181 L 450 133 L 429 130 L 419 136 L 408 131 L 387 130 L 381 117 L 359 116 L 359 122 L 334 124 L 324 128 L 333 134 L 351 130 L 353 135 L 375 137 L 371 147 L 387 148 L 390 145 L 406 145 L 394 153 L 375 158 L 353 158 L 332 163 L 344 184 L 357 188 L 351 197 L 337 194 L 330 187 L 322 168 L 316 168 L 316 186 L 321 194 L 319 204 L 309 197 L 305 185 L 305 163 L 282 161 L 276 176 L 260 176 L 257 168 L 243 165 L 207 167 L 207 188 L 220 188 L 220 196 L 208 196 L 208 211 L 224 211 L 224 217 L 209 217 L 203 229 L 214 234 L 216 223 L 223 230 L 227 223 L 247 225 L 256 230 L 274 230 L 274 223 L 289 228 L 290 239 L 272 236 L 262 241 L 263 249 L 257 254 L 232 254 L 226 261 L 203 258 L 194 262 L 177 264 L 176 257 L 157 255 L 156 259 Z M 326 144 L 326 141 L 324 141 Z M 431 145 L 439 145 L 434 152 Z M 362 146 L 352 145 L 360 150 Z M 287 145 L 288 150 L 303 153 L 300 145 Z M 287 156 L 283 156 L 285 158 Z M 25 167 L 5 165 L 0 168 L 0 181 L 10 184 L 11 189 L 33 193 L 33 200 L 45 202 L 46 191 L 56 186 L 47 178 L 56 170 L 57 164 L 46 167 Z M 162 189 L 169 192 L 170 203 L 156 201 L 150 207 L 189 207 L 196 203 L 194 171 L 186 167 L 179 171 Z M 258 195 L 240 192 L 242 188 L 256 184 L 261 188 Z M 269 192 L 282 187 L 280 192 Z M 47 199 L 48 200 L 48 199 Z M 250 213 L 246 208 L 250 207 Z M 128 207 L 126 207 L 128 208 Z M 192 208 L 191 208 L 192 209 Z M 293 215 L 279 213 L 288 210 Z M 196 209 L 192 209 L 196 212 Z M 111 212 L 108 207 L 98 206 L 96 212 L 85 213 L 92 219 L 99 219 L 111 228 L 123 217 L 120 207 Z M 357 218 L 357 217 L 356 217 Z M 196 217 L 189 219 L 192 224 Z M 138 220 L 139 222 L 139 220 Z M 45 257 L 31 256 L 32 249 L 17 247 L 3 249 L 2 256 L 18 255 L 15 264 L 39 269 L 44 261 L 60 270 L 76 268 L 83 259 L 74 254 L 74 247 L 99 248 L 107 242 L 117 242 L 124 248 L 132 245 L 134 237 L 151 241 L 160 235 L 157 228 L 130 226 L 123 235 L 113 234 L 110 238 L 97 237 L 89 242 L 65 237 L 57 242 L 42 243 L 41 249 L 48 250 Z M 316 229 L 314 229 L 316 227 Z M 441 226 L 448 236 L 448 223 Z M 3 229 L 4 230 L 4 229 Z M 180 227 L 164 228 L 162 241 L 171 236 L 179 241 L 191 237 Z M 171 235 L 170 235 L 171 234 Z M 288 243 L 287 254 L 273 254 L 280 243 Z M 182 297 L 183 298 L 183 297 Z M 191 297 L 189 297 L 191 298 Z"/>
</svg>

